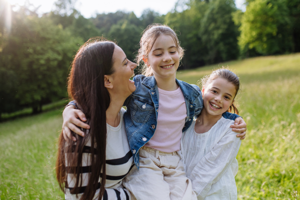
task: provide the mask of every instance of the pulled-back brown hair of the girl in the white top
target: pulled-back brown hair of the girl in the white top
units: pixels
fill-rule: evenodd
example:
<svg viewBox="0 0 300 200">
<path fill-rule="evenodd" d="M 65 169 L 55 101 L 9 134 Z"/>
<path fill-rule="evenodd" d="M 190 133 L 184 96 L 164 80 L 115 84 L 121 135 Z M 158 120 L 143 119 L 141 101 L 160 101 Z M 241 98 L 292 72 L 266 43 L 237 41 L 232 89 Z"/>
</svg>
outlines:
<svg viewBox="0 0 300 200">
<path fill-rule="evenodd" d="M 201 78 L 201 80 L 199 80 L 198 83 L 201 83 L 202 87 L 205 87 L 212 80 L 214 80 L 216 78 L 223 78 L 223 79 L 227 80 L 228 82 L 231 82 L 235 86 L 235 90 L 236 90 L 236 92 L 234 94 L 234 98 L 235 98 L 237 91 L 239 90 L 239 86 L 240 86 L 239 78 L 235 73 L 233 73 L 228 68 L 222 67 L 222 68 L 216 69 L 216 70 L 212 71 L 212 73 L 210 73 L 209 75 L 206 75 L 203 78 Z M 233 100 L 234 100 L 234 98 L 233 98 Z M 239 114 L 239 112 L 236 108 L 236 105 L 234 103 L 232 103 L 230 105 L 227 112 L 233 112 L 235 114 Z"/>
</svg>

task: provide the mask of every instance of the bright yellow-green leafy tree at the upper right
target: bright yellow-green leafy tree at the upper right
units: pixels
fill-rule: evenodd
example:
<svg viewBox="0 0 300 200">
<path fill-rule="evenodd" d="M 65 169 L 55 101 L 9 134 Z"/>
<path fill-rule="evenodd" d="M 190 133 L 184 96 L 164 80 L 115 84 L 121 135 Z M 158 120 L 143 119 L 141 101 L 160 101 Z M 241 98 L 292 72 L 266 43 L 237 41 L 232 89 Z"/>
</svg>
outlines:
<svg viewBox="0 0 300 200">
<path fill-rule="evenodd" d="M 250 1 L 242 15 L 238 43 L 241 50 L 255 48 L 262 54 L 292 50 L 291 22 L 286 0 Z"/>
</svg>

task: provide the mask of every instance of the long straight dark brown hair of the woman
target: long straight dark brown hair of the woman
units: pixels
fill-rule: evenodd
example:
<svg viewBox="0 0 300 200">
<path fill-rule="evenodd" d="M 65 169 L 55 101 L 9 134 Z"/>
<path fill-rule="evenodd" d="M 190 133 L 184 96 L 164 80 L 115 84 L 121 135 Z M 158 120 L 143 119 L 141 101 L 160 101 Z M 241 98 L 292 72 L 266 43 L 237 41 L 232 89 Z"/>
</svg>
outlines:
<svg viewBox="0 0 300 200">
<path fill-rule="evenodd" d="M 100 195 L 104 194 L 105 147 L 106 147 L 106 109 L 110 103 L 110 95 L 104 87 L 104 75 L 112 74 L 112 54 L 115 44 L 111 41 L 89 39 L 76 53 L 68 77 L 68 94 L 77 101 L 83 111 L 90 129 L 85 137 L 74 134 L 77 141 L 65 141 L 62 133 L 58 140 L 58 155 L 56 160 L 56 178 L 62 191 L 66 184 L 66 172 L 74 174 L 75 186 L 71 193 L 81 193 L 82 186 L 82 153 L 84 145 L 90 139 L 91 147 L 88 184 L 80 199 L 92 199 L 100 187 Z M 86 130 L 84 130 L 85 133 Z M 71 153 L 72 152 L 72 153 Z M 65 163 L 67 162 L 67 163 Z M 101 182 L 99 177 L 101 175 Z"/>
</svg>

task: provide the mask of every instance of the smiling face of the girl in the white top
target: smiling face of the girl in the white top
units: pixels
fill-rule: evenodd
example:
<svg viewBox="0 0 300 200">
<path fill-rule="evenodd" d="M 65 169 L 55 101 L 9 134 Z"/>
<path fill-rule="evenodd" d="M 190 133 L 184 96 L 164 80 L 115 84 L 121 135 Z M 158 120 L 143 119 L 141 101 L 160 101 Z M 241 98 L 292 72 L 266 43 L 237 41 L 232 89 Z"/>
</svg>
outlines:
<svg viewBox="0 0 300 200">
<path fill-rule="evenodd" d="M 203 86 L 203 105 L 208 114 L 220 115 L 227 111 L 236 94 L 235 86 L 223 78 L 215 78 Z"/>
</svg>

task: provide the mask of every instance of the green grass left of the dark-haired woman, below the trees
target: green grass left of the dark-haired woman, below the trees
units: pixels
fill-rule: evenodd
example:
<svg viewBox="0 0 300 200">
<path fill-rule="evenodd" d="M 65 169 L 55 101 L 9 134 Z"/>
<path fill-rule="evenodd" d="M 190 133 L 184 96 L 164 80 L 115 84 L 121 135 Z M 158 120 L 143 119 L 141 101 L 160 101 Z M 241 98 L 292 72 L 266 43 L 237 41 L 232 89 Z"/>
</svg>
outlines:
<svg viewBox="0 0 300 200">
<path fill-rule="evenodd" d="M 61 110 L 0 123 L 0 199 L 64 199 L 54 172 Z"/>
</svg>

